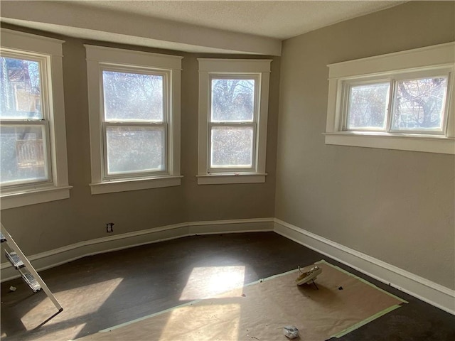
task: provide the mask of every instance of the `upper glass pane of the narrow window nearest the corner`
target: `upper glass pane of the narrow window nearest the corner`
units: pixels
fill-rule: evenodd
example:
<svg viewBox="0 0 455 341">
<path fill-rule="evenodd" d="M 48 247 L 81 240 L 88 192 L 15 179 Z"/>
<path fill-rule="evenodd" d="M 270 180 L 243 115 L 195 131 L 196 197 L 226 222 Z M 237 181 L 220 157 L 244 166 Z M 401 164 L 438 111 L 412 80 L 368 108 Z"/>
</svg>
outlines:
<svg viewBox="0 0 455 341">
<path fill-rule="evenodd" d="M 255 80 L 212 80 L 212 121 L 252 121 Z"/>
</svg>

